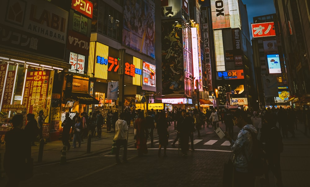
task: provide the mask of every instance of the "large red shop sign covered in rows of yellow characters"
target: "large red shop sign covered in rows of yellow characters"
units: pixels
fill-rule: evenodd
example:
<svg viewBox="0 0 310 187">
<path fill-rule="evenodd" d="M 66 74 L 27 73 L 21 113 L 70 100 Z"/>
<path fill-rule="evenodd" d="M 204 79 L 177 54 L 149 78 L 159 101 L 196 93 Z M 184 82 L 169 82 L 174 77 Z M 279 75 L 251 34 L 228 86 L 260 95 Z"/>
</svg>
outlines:
<svg viewBox="0 0 310 187">
<path fill-rule="evenodd" d="M 27 72 L 23 98 L 23 105 L 26 105 L 27 114 L 36 115 L 38 111 L 46 108 L 49 78 L 49 71 Z"/>
</svg>

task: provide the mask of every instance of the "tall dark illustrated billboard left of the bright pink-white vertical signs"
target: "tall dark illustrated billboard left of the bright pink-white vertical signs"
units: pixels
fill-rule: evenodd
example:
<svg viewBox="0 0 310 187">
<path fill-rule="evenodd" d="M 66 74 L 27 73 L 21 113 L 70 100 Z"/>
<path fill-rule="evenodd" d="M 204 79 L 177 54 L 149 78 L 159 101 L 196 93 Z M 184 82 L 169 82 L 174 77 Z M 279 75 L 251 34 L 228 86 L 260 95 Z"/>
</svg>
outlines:
<svg viewBox="0 0 310 187">
<path fill-rule="evenodd" d="M 162 24 L 163 94 L 184 94 L 182 25 Z"/>
</svg>

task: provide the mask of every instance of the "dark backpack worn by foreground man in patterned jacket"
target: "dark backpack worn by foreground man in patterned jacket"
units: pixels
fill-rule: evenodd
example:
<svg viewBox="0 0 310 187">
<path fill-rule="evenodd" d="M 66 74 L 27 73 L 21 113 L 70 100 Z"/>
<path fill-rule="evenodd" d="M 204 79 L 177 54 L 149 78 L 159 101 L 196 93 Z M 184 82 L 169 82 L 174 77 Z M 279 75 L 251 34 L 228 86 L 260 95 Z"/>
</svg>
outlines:
<svg viewBox="0 0 310 187">
<path fill-rule="evenodd" d="M 264 174 L 264 152 L 263 152 L 263 144 L 259 141 L 256 137 L 256 134 L 250 130 L 249 128 L 244 128 L 251 133 L 252 140 L 253 140 L 253 155 L 250 160 L 248 161 L 248 172 L 252 173 L 255 176 L 262 176 Z"/>
</svg>

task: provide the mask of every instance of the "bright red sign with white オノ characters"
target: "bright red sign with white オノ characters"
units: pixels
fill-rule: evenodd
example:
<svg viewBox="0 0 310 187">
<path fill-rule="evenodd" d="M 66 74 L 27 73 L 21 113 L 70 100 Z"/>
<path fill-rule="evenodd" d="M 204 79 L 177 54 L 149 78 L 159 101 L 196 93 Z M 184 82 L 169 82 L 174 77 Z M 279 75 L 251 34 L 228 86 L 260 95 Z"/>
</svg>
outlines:
<svg viewBox="0 0 310 187">
<path fill-rule="evenodd" d="M 267 37 L 267 36 L 276 36 L 276 31 L 274 30 L 274 23 L 259 23 L 252 24 L 252 35 L 255 37 Z"/>
</svg>

